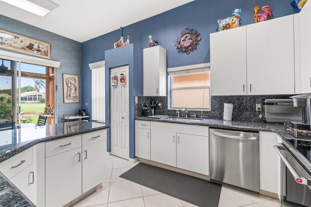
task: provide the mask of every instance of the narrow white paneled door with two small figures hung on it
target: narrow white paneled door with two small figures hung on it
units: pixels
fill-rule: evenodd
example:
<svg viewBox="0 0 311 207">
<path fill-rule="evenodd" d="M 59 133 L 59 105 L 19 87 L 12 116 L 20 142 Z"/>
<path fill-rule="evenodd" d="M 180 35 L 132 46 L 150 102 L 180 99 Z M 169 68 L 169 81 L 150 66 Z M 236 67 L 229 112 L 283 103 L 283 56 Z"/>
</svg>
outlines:
<svg viewBox="0 0 311 207">
<path fill-rule="evenodd" d="M 121 74 L 125 82 L 121 82 Z M 111 154 L 129 159 L 129 86 L 128 65 L 110 69 L 110 80 L 117 77 L 117 85 L 110 84 Z"/>
</svg>

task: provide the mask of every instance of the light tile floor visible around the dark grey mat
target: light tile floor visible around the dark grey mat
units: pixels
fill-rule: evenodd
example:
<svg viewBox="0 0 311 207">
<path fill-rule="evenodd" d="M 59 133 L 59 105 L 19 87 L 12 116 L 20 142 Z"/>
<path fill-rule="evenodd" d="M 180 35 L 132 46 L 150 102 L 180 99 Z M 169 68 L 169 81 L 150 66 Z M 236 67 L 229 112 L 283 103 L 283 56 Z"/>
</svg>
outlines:
<svg viewBox="0 0 311 207">
<path fill-rule="evenodd" d="M 108 156 L 103 187 L 73 207 L 195 207 L 119 177 L 138 163 Z M 276 199 L 223 185 L 219 207 L 280 207 L 280 204 Z"/>
</svg>

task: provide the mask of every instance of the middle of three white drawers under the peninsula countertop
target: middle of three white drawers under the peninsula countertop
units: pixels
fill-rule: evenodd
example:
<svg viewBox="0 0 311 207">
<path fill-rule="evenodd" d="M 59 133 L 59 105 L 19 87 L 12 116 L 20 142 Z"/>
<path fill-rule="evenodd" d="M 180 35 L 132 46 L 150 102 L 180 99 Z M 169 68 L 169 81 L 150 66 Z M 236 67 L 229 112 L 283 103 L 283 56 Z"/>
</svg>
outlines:
<svg viewBox="0 0 311 207">
<path fill-rule="evenodd" d="M 45 143 L 45 157 L 57 155 L 81 147 L 81 135 Z"/>
</svg>

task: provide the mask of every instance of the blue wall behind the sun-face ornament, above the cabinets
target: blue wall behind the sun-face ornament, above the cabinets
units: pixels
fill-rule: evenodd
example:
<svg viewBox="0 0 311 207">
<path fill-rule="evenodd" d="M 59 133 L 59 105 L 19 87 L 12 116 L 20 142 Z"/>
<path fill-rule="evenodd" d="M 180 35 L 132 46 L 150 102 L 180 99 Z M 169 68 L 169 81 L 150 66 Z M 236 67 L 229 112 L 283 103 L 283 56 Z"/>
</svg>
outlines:
<svg viewBox="0 0 311 207">
<path fill-rule="evenodd" d="M 218 31 L 218 19 L 232 16 L 234 9 L 241 8 L 241 26 L 253 24 L 254 6 L 269 5 L 273 11 L 272 19 L 294 14 L 291 2 L 292 0 L 195 0 L 124 27 L 124 39 L 127 37 L 127 32 L 130 32 L 131 43 L 135 43 L 140 48 L 148 48 L 148 36 L 153 35 L 154 40 L 157 40 L 167 50 L 167 67 L 208 63 L 209 34 Z M 260 10 L 259 13 L 261 12 Z M 124 18 L 126 17 L 124 16 Z M 102 26 L 104 27 L 104 25 Z M 190 52 L 189 55 L 178 53 L 175 46 L 177 35 L 186 28 L 197 30 L 201 37 L 197 50 Z M 91 112 L 91 72 L 88 64 L 105 60 L 104 51 L 112 49 L 113 43 L 120 39 L 120 35 L 121 30 L 117 30 L 82 43 L 82 81 L 85 83 L 82 88 L 82 101 L 83 108 L 88 114 Z M 86 102 L 88 102 L 88 106 L 85 105 Z"/>
</svg>

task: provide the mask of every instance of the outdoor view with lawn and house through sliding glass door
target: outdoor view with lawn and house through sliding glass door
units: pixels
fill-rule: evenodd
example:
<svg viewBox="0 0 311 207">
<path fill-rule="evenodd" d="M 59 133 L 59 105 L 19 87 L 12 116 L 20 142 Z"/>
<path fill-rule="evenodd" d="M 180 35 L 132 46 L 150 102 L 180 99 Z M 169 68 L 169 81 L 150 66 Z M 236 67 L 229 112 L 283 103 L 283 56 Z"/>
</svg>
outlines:
<svg viewBox="0 0 311 207">
<path fill-rule="evenodd" d="M 15 63 L 4 60 L 3 64 L 7 69 L 2 69 L 0 66 L 0 123 L 18 122 L 20 119 L 21 124 L 37 124 L 38 116 L 44 113 L 46 107 L 46 88 L 49 80 L 46 67 L 22 63 L 20 85 L 18 85 L 18 71 L 17 80 L 14 80 Z M 20 103 L 18 102 L 19 90 Z M 17 113 L 17 120 L 14 119 L 14 113 Z"/>
</svg>

